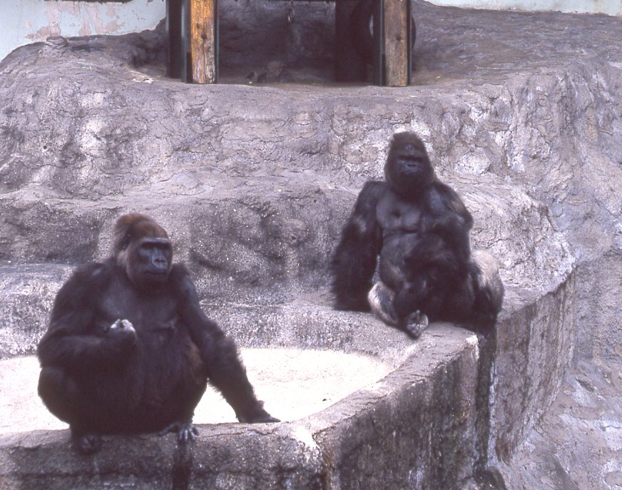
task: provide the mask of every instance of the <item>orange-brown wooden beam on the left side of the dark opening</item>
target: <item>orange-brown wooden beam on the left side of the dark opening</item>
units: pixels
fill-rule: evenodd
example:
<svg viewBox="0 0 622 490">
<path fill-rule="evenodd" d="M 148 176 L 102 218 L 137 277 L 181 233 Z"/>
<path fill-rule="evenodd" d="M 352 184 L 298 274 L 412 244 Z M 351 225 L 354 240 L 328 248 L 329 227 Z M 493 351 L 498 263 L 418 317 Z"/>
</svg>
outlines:
<svg viewBox="0 0 622 490">
<path fill-rule="evenodd" d="M 190 3 L 190 81 L 218 82 L 218 0 L 188 0 Z"/>
</svg>

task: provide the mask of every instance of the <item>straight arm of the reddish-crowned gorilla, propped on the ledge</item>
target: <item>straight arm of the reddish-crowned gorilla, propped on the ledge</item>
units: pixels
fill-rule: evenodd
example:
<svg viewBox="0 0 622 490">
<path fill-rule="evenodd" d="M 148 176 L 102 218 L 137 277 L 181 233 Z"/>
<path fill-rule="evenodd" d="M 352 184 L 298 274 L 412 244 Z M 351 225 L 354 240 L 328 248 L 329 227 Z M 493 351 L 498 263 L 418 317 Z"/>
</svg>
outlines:
<svg viewBox="0 0 622 490">
<path fill-rule="evenodd" d="M 238 348 L 200 307 L 195 286 L 182 264 L 173 265 L 170 282 L 178 298 L 179 315 L 197 345 L 208 370 L 210 383 L 233 407 L 240 422 L 279 422 L 263 408 L 255 397 L 246 370 L 238 356 Z"/>
</svg>

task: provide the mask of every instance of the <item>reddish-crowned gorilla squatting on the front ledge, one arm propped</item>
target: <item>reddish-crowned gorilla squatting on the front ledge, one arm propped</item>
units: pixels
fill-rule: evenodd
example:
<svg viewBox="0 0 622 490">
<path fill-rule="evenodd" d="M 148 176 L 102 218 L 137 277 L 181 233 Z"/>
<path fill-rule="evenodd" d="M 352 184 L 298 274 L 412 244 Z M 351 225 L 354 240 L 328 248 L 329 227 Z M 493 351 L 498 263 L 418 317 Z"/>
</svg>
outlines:
<svg viewBox="0 0 622 490">
<path fill-rule="evenodd" d="M 177 432 L 194 439 L 193 412 L 208 380 L 240 422 L 277 422 L 255 398 L 235 343 L 200 308 L 168 235 L 140 214 L 118 219 L 113 255 L 61 287 L 39 343 L 39 395 L 68 422 L 74 446 L 100 434 Z"/>
</svg>

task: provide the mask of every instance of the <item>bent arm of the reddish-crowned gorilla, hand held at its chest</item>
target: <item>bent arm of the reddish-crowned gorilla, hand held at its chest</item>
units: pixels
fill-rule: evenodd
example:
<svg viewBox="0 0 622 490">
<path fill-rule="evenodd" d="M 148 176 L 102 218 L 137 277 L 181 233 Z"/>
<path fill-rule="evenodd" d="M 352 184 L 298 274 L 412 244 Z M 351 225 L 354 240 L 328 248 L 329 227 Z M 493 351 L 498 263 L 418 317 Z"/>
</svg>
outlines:
<svg viewBox="0 0 622 490">
<path fill-rule="evenodd" d="M 114 322 L 106 328 L 96 322 L 96 298 L 101 296 L 110 277 L 108 264 L 86 264 L 78 267 L 61 287 L 54 301 L 50 327 L 37 346 L 42 367 L 91 369 L 123 358 L 133 347 L 136 332 L 131 324 Z"/>
</svg>

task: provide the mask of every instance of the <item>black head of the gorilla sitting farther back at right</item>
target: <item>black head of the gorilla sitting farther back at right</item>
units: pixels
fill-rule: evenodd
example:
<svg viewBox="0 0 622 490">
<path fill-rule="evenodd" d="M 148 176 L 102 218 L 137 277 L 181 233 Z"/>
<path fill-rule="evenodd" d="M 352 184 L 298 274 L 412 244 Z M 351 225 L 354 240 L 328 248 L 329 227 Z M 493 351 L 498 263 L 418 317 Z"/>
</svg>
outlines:
<svg viewBox="0 0 622 490">
<path fill-rule="evenodd" d="M 423 142 L 413 133 L 397 133 L 391 142 L 384 177 L 391 188 L 405 198 L 413 198 L 434 181 Z"/>
</svg>

